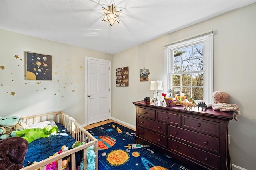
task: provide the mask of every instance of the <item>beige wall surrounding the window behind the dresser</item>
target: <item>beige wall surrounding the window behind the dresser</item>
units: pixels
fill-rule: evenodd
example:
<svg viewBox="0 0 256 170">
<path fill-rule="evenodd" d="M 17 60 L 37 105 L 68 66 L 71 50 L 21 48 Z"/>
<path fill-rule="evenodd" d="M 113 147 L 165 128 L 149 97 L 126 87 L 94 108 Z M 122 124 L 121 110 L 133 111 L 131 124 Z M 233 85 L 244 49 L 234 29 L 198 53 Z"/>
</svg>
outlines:
<svg viewBox="0 0 256 170">
<path fill-rule="evenodd" d="M 230 121 L 232 164 L 256 167 L 256 3 L 165 35 L 113 55 L 112 117 L 136 125 L 134 101 L 152 96 L 150 80 L 164 81 L 164 45 L 209 29 L 214 30 L 214 91 L 231 96 L 240 107 L 239 122 Z M 166 21 L 171 22 L 171 21 Z M 115 69 L 129 67 L 129 86 L 115 86 Z M 149 82 L 140 82 L 140 69 L 149 68 Z M 164 91 L 162 91 L 164 92 Z M 161 92 L 161 93 L 162 93 Z M 233 167 L 234 168 L 234 167 Z"/>
</svg>

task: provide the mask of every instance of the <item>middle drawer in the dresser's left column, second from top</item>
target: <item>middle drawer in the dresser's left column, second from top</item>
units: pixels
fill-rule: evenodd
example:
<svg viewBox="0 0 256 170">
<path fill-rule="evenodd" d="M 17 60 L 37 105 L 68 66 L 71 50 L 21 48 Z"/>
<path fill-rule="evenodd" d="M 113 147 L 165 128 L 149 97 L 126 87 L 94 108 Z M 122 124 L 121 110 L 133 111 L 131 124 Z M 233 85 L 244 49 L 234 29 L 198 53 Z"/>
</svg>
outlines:
<svg viewBox="0 0 256 170">
<path fill-rule="evenodd" d="M 138 126 L 146 128 L 146 129 L 151 129 L 152 131 L 156 131 L 156 133 L 159 133 L 162 135 L 167 135 L 166 123 L 160 123 L 160 122 L 146 119 L 143 117 L 138 117 Z"/>
</svg>

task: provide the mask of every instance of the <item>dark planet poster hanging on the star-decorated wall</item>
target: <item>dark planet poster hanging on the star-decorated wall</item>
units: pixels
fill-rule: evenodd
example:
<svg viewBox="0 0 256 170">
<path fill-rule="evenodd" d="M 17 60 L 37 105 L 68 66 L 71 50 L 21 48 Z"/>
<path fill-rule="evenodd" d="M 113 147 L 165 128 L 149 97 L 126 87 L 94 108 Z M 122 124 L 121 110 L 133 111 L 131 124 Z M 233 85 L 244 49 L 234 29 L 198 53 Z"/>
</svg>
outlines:
<svg viewBox="0 0 256 170">
<path fill-rule="evenodd" d="M 52 56 L 25 51 L 27 80 L 52 80 Z"/>
</svg>

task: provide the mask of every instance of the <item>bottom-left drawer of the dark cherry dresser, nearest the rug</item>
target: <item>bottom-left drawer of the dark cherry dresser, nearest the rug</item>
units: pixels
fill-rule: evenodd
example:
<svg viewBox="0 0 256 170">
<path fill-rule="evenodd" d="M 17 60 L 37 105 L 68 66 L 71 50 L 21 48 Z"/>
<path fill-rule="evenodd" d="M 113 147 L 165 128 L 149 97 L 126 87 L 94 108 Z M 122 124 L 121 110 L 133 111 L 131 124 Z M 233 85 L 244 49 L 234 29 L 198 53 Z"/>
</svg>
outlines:
<svg viewBox="0 0 256 170">
<path fill-rule="evenodd" d="M 138 135 L 146 140 L 156 143 L 158 146 L 166 148 L 167 137 L 154 133 L 152 131 L 138 127 Z"/>
</svg>

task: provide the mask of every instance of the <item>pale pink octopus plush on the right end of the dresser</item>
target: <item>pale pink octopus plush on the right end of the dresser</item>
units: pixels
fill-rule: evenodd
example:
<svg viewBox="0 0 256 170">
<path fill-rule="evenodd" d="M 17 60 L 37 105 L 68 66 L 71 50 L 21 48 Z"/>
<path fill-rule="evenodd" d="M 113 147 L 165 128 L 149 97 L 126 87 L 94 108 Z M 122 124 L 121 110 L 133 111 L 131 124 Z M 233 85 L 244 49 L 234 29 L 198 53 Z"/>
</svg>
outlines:
<svg viewBox="0 0 256 170">
<path fill-rule="evenodd" d="M 241 115 L 240 111 L 238 111 L 239 107 L 236 104 L 228 104 L 228 101 L 230 100 L 230 95 L 227 92 L 213 92 L 212 100 L 214 103 L 207 105 L 208 107 L 212 107 L 212 109 L 220 111 L 234 111 L 236 113 L 236 115 L 234 115 L 234 119 L 236 121 L 239 121 L 237 118 Z"/>
</svg>

